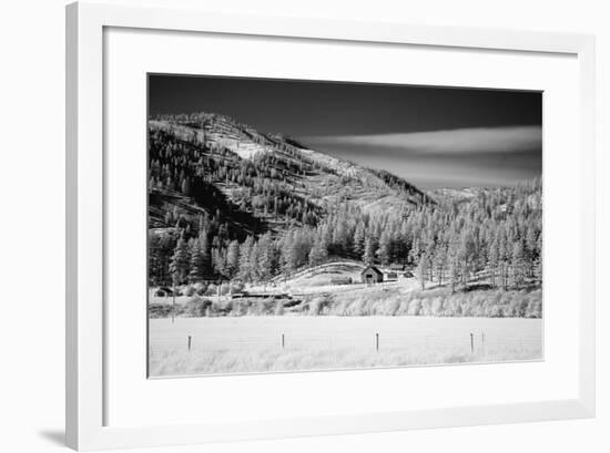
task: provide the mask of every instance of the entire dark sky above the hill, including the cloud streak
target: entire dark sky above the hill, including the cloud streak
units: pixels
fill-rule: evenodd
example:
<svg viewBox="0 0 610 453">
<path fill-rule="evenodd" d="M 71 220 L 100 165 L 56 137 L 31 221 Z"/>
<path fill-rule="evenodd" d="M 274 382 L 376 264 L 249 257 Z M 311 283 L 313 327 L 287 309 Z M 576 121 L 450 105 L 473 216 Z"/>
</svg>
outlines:
<svg viewBox="0 0 610 453">
<path fill-rule="evenodd" d="M 336 82 L 151 75 L 149 111 L 215 112 L 423 187 L 541 175 L 542 95 Z"/>
</svg>

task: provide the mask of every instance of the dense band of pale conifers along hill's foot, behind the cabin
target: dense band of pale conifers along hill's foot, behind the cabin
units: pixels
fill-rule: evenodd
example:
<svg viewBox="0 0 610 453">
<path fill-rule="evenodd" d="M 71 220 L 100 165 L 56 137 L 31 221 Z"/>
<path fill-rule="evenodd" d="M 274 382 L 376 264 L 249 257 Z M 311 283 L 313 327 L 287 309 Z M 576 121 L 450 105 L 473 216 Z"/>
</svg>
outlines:
<svg viewBox="0 0 610 453">
<path fill-rule="evenodd" d="M 426 281 L 451 288 L 486 271 L 491 286 L 507 289 L 541 279 L 540 182 L 481 189 L 469 200 L 439 199 L 417 208 L 370 215 L 343 203 L 317 226 L 232 239 L 216 218 L 150 237 L 151 282 L 193 282 L 211 275 L 267 281 L 328 257 L 367 264 L 405 264 Z"/>
</svg>

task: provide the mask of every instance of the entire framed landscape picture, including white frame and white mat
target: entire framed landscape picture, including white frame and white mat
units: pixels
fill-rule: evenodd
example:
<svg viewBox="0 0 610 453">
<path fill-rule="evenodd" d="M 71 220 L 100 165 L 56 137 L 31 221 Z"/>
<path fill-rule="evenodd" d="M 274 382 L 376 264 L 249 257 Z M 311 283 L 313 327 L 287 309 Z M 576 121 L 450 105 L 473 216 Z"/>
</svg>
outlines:
<svg viewBox="0 0 610 453">
<path fill-rule="evenodd" d="M 594 415 L 592 37 L 67 24 L 70 446 Z"/>
</svg>

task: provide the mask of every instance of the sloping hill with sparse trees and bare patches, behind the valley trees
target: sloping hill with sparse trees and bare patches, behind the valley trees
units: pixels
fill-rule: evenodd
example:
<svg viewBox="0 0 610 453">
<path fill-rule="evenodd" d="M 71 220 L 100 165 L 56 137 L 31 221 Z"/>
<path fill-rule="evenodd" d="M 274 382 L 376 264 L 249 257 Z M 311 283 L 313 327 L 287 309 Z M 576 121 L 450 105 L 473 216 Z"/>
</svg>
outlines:
<svg viewBox="0 0 610 453">
<path fill-rule="evenodd" d="M 427 196 L 387 172 L 307 150 L 228 116 L 200 113 L 149 122 L 150 227 L 190 230 L 205 215 L 243 240 L 315 227 L 346 202 L 365 213 L 417 206 Z"/>
</svg>

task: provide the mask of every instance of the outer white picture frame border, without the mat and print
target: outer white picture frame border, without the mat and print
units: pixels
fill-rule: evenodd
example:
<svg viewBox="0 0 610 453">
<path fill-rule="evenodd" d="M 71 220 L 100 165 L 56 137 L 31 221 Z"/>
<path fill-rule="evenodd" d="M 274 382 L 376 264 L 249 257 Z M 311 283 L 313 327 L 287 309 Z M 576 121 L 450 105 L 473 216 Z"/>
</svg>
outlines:
<svg viewBox="0 0 610 453">
<path fill-rule="evenodd" d="M 578 59 L 580 111 L 580 300 L 575 398 L 434 410 L 302 416 L 216 424 L 106 423 L 104 334 L 105 28 L 377 42 Z M 253 17 L 87 2 L 67 7 L 67 443 L 77 450 L 157 446 L 594 416 L 594 38 L 494 29 Z"/>
</svg>

